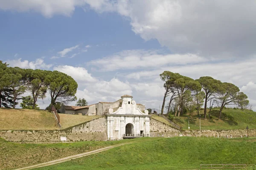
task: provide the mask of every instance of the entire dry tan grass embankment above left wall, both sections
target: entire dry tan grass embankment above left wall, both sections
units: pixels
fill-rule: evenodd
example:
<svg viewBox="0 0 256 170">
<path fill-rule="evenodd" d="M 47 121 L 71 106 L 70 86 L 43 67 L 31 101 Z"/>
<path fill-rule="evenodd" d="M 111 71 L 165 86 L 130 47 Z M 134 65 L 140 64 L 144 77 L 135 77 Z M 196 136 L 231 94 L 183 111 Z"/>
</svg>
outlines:
<svg viewBox="0 0 256 170">
<path fill-rule="evenodd" d="M 59 114 L 62 129 L 100 116 Z M 44 110 L 0 108 L 0 130 L 56 130 L 54 115 Z"/>
</svg>

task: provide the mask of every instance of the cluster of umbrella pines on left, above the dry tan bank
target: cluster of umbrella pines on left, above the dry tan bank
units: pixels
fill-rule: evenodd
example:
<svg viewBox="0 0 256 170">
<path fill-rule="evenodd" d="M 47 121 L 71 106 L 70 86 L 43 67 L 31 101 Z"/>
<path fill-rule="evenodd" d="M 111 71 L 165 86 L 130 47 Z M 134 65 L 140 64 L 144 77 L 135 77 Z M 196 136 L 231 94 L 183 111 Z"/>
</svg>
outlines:
<svg viewBox="0 0 256 170">
<path fill-rule="evenodd" d="M 76 81 L 59 71 L 22 69 L 8 67 L 0 61 L 0 107 L 15 108 L 17 100 L 23 108 L 38 108 L 38 99 L 44 99 L 48 93 L 51 105 L 76 100 Z M 24 93 L 31 96 L 21 97 Z"/>
</svg>

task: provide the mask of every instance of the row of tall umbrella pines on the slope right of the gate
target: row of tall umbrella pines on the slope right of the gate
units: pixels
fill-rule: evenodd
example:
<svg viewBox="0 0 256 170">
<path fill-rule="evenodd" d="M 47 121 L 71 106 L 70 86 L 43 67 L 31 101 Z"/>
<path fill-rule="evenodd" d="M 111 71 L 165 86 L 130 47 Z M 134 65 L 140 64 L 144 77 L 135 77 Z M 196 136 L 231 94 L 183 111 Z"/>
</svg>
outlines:
<svg viewBox="0 0 256 170">
<path fill-rule="evenodd" d="M 238 105 L 241 109 L 249 105 L 247 96 L 240 92 L 239 88 L 228 82 L 221 82 L 212 77 L 200 77 L 192 79 L 182 76 L 178 73 L 164 71 L 160 74 L 163 80 L 165 93 L 163 97 L 163 105 L 161 114 L 165 108 L 165 102 L 170 96 L 169 103 L 166 106 L 167 112 L 172 112 L 174 116 L 180 116 L 187 111 L 199 110 L 204 104 L 204 118 L 207 116 L 207 102 L 211 101 L 220 106 L 219 119 L 221 111 L 227 105 Z"/>
</svg>

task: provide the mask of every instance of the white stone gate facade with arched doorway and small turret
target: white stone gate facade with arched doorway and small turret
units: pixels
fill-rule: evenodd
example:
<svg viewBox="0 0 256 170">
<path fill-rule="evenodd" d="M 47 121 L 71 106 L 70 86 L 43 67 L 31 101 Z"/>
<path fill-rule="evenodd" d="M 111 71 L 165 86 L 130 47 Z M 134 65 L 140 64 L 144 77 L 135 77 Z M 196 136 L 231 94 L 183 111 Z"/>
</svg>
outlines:
<svg viewBox="0 0 256 170">
<path fill-rule="evenodd" d="M 150 115 L 148 111 L 137 108 L 132 96 L 124 95 L 122 106 L 109 109 L 106 114 L 108 140 L 119 140 L 123 137 L 150 136 Z"/>
</svg>

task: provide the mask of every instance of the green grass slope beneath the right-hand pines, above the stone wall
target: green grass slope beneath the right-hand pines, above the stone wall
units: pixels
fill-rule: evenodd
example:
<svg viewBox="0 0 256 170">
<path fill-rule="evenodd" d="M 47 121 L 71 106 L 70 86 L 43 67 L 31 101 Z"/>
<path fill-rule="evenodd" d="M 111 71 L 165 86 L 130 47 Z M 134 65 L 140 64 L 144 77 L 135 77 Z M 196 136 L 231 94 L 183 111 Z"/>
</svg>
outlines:
<svg viewBox="0 0 256 170">
<path fill-rule="evenodd" d="M 203 116 L 204 111 L 200 111 Z M 218 119 L 219 110 L 211 111 L 211 119 L 209 119 L 209 111 L 207 111 L 207 119 L 201 119 L 202 130 L 224 130 L 224 129 L 256 129 L 256 112 L 240 109 L 225 109 L 222 111 L 221 119 Z M 202 118 L 201 116 L 201 118 Z M 188 120 L 190 130 L 199 130 L 200 123 L 197 112 L 188 113 L 187 115 L 175 117 L 174 122 L 181 126 L 183 130 L 188 129 Z"/>
</svg>

